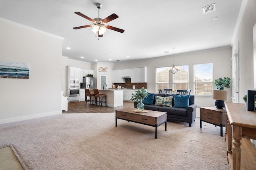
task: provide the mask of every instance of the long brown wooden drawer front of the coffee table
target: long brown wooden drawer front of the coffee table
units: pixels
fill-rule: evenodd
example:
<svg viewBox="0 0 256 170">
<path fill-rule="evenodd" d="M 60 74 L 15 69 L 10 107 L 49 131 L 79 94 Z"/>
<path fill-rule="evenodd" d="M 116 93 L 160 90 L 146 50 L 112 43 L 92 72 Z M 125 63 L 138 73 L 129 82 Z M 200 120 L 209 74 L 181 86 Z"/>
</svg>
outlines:
<svg viewBox="0 0 256 170">
<path fill-rule="evenodd" d="M 138 122 L 141 122 L 141 123 L 147 123 L 147 124 L 150 124 L 150 125 L 156 125 L 156 118 L 155 117 L 132 114 L 132 113 L 124 113 L 124 112 L 116 112 L 116 117 L 129 119 L 131 121 L 138 121 Z"/>
</svg>

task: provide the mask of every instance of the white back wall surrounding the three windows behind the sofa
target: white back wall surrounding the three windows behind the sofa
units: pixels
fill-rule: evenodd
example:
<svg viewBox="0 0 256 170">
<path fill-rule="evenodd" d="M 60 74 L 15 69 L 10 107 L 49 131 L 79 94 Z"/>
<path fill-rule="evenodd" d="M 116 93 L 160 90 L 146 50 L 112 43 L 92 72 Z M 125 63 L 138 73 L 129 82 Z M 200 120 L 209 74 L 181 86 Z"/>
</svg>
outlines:
<svg viewBox="0 0 256 170">
<path fill-rule="evenodd" d="M 154 59 L 146 59 L 135 62 L 118 63 L 115 64 L 115 69 L 134 68 L 140 66 L 148 66 L 148 91 L 151 93 L 156 92 L 156 68 L 172 66 L 173 56 L 158 57 Z M 231 69 L 231 47 L 224 47 L 220 49 L 210 49 L 206 51 L 195 51 L 193 53 L 184 53 L 175 55 L 175 65 L 189 65 L 189 88 L 192 89 L 191 94 L 194 93 L 194 71 L 193 64 L 198 63 L 213 63 L 213 79 L 232 77 Z M 170 77 L 170 83 L 172 84 L 172 74 Z M 216 89 L 215 85 L 213 86 Z M 228 90 L 228 102 L 231 102 L 232 88 L 225 88 Z M 195 96 L 195 103 L 198 106 L 214 106 L 215 100 L 211 96 L 200 97 Z"/>
</svg>

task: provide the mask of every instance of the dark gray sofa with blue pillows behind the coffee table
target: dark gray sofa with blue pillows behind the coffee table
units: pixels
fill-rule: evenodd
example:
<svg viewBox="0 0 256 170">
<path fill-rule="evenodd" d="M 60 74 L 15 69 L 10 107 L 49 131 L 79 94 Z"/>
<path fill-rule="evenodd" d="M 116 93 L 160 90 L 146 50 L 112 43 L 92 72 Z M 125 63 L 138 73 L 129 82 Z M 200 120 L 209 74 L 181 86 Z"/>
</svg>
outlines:
<svg viewBox="0 0 256 170">
<path fill-rule="evenodd" d="M 153 104 L 156 103 L 155 96 L 164 97 L 164 96 L 172 96 L 172 95 L 171 94 L 154 94 Z M 174 102 L 175 101 L 174 101 L 174 97 L 173 97 L 172 98 L 172 106 L 174 106 Z M 137 108 L 137 104 L 138 104 L 137 101 L 134 102 L 134 108 Z M 190 127 L 191 127 L 191 124 L 196 119 L 196 107 L 197 107 L 197 105 L 194 104 L 194 95 L 190 95 L 189 106 L 187 108 L 176 108 L 176 107 L 144 104 L 144 109 L 166 112 L 167 120 L 187 122 Z"/>
</svg>

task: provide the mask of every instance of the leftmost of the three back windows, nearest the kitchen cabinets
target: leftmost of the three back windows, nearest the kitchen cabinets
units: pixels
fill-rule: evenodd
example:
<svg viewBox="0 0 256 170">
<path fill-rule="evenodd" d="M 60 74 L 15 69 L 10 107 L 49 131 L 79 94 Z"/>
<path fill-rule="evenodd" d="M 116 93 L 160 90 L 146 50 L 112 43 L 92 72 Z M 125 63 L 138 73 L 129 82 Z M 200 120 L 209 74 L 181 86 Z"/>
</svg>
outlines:
<svg viewBox="0 0 256 170">
<path fill-rule="evenodd" d="M 156 92 L 161 89 L 164 92 L 164 89 L 169 88 L 169 67 L 156 68 Z"/>
</svg>

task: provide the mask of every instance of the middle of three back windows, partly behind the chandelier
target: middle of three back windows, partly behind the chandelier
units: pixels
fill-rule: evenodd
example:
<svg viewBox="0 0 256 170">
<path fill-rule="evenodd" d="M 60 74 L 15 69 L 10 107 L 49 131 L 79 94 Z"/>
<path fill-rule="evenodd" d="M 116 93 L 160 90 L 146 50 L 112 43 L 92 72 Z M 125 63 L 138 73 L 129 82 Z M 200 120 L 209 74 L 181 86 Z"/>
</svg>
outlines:
<svg viewBox="0 0 256 170">
<path fill-rule="evenodd" d="M 173 74 L 173 89 L 187 90 L 188 89 L 188 65 L 176 66 L 180 68 L 179 72 Z"/>
</svg>

